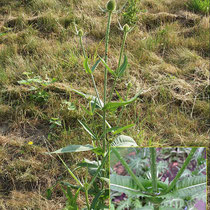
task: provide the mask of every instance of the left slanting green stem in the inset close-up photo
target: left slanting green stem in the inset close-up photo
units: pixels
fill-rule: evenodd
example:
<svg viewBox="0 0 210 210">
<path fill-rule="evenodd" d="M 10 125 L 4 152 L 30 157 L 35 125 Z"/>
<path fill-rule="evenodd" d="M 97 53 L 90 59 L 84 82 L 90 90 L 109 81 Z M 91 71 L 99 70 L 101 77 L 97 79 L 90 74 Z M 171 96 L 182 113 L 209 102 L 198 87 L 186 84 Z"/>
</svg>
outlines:
<svg viewBox="0 0 210 210">
<path fill-rule="evenodd" d="M 119 161 L 122 163 L 122 165 L 125 167 L 125 169 L 127 170 L 127 172 L 130 174 L 130 176 L 132 177 L 132 179 L 134 180 L 134 182 L 139 186 L 139 188 L 142 191 L 146 191 L 146 189 L 144 188 L 144 186 L 142 185 L 142 183 L 139 181 L 139 179 L 137 178 L 137 176 L 130 169 L 130 167 L 128 166 L 128 164 L 126 163 L 126 161 L 120 156 L 120 154 L 118 153 L 118 151 L 114 147 L 112 147 L 112 151 L 114 152 L 114 154 L 116 155 L 116 157 L 119 159 Z"/>
</svg>

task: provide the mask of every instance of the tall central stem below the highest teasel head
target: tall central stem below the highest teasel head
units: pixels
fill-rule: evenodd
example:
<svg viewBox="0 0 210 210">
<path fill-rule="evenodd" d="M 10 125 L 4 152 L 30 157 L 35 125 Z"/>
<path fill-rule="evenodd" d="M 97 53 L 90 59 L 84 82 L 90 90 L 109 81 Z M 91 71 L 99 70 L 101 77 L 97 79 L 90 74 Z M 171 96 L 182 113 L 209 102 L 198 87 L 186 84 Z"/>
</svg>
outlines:
<svg viewBox="0 0 210 210">
<path fill-rule="evenodd" d="M 106 39 L 105 39 L 105 58 L 104 61 L 107 63 L 108 59 L 108 43 L 109 43 L 109 33 L 110 33 L 110 24 L 111 24 L 111 16 L 112 12 L 110 11 L 108 14 L 108 23 L 106 29 Z M 106 105 L 106 89 L 107 89 L 107 68 L 104 71 L 104 106 Z M 103 132 L 104 132 L 104 139 L 103 139 L 103 153 L 106 151 L 106 111 L 103 111 Z"/>
</svg>

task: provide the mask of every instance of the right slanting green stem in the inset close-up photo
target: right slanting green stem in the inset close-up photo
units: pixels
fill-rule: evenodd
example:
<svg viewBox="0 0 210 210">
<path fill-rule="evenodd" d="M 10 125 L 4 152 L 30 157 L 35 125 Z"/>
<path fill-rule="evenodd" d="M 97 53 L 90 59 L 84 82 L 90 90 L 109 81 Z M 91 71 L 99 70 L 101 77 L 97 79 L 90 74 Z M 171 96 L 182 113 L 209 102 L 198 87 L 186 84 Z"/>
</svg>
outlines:
<svg viewBox="0 0 210 210">
<path fill-rule="evenodd" d="M 177 173 L 176 177 L 173 179 L 173 181 L 171 182 L 171 184 L 169 185 L 168 189 L 166 190 L 166 192 L 164 194 L 167 194 L 168 192 L 170 192 L 174 186 L 176 185 L 178 179 L 181 177 L 181 175 L 183 174 L 185 168 L 188 166 L 188 164 L 190 163 L 193 155 L 195 154 L 197 148 L 192 148 L 190 151 L 190 154 L 188 155 L 188 157 L 186 158 L 184 164 L 182 165 L 182 168 L 179 170 L 179 172 Z"/>
</svg>

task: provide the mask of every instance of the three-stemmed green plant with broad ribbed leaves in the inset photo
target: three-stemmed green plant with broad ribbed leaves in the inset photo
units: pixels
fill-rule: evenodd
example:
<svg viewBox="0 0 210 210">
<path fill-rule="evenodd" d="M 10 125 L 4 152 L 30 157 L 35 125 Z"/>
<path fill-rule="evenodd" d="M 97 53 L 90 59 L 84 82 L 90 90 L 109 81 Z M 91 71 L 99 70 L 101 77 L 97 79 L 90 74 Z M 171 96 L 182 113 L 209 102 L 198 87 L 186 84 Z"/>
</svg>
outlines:
<svg viewBox="0 0 210 210">
<path fill-rule="evenodd" d="M 155 148 L 150 148 L 150 170 L 151 179 L 145 179 L 141 176 L 136 176 L 130 166 L 121 157 L 116 148 L 112 148 L 111 152 L 119 159 L 121 164 L 130 176 L 120 176 L 117 174 L 110 175 L 110 188 L 113 191 L 125 193 L 131 198 L 137 196 L 144 197 L 147 205 L 140 206 L 138 209 L 154 209 L 154 210 L 170 210 L 182 209 L 184 207 L 184 200 L 187 198 L 205 197 L 206 176 L 197 175 L 191 177 L 182 177 L 183 172 L 192 160 L 197 148 L 192 148 L 190 154 L 183 163 L 181 169 L 170 184 L 158 181 L 157 166 L 156 166 L 156 151 Z M 128 202 L 131 201 L 128 199 Z M 128 203 L 127 203 L 128 204 Z M 123 204 L 124 205 L 124 204 Z M 120 209 L 120 208 L 119 208 Z"/>
</svg>

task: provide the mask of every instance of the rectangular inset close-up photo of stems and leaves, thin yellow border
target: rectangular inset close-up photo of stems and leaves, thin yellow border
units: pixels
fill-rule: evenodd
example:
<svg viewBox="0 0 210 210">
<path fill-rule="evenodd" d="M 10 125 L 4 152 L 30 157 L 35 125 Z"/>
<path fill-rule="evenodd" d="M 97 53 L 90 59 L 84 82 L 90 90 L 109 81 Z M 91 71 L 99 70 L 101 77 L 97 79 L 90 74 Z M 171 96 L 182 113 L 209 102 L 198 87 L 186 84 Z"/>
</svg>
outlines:
<svg viewBox="0 0 210 210">
<path fill-rule="evenodd" d="M 206 210 L 206 148 L 110 149 L 111 210 Z"/>
</svg>

